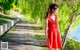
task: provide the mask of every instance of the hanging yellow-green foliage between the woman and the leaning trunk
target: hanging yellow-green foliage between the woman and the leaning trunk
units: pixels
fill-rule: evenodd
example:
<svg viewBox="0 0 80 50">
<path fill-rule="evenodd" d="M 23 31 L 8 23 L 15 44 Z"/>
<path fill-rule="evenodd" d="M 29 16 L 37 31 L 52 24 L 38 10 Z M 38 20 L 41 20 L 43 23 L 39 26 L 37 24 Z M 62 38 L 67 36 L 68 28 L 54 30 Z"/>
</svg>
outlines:
<svg viewBox="0 0 80 50">
<path fill-rule="evenodd" d="M 64 32 L 67 25 L 69 24 L 69 17 L 70 17 L 70 11 L 67 6 L 67 4 L 60 4 L 59 5 L 59 12 L 58 12 L 58 17 L 59 17 L 59 26 L 61 32 Z"/>
</svg>

